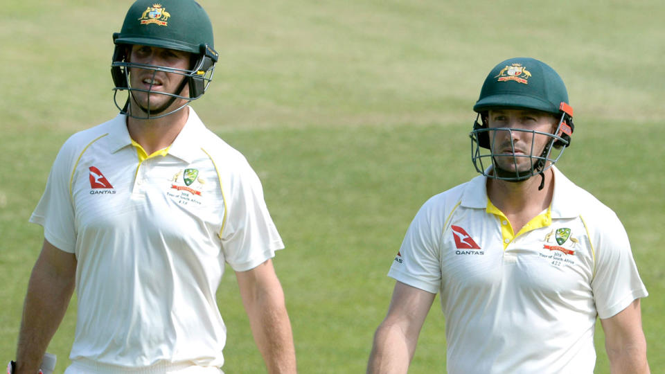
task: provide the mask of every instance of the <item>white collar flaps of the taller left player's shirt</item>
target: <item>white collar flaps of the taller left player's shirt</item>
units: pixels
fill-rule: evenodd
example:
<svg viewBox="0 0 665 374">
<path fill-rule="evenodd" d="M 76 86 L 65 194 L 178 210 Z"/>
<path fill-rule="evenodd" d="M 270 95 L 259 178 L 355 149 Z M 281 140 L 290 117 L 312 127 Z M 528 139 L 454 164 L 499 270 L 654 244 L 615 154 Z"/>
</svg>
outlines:
<svg viewBox="0 0 665 374">
<path fill-rule="evenodd" d="M 185 123 L 185 126 L 180 130 L 178 136 L 176 136 L 175 141 L 168 148 L 168 154 L 190 163 L 197 157 L 199 147 L 196 145 L 202 140 L 202 135 L 200 134 L 205 125 L 192 107 L 187 107 L 187 109 L 189 110 L 187 123 Z M 112 153 L 132 145 L 132 138 L 130 132 L 127 130 L 127 116 L 125 114 L 118 114 L 116 118 L 109 121 L 109 136 L 107 136 L 107 141 L 109 141 L 109 150 Z"/>
</svg>

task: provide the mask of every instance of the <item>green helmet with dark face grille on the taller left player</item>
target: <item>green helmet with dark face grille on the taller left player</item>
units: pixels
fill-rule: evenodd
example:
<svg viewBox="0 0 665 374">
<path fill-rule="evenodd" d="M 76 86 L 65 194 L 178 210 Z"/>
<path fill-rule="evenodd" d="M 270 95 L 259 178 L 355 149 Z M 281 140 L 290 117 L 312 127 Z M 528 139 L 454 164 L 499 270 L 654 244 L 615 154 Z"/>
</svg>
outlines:
<svg viewBox="0 0 665 374">
<path fill-rule="evenodd" d="M 115 50 L 111 64 L 111 75 L 115 84 L 114 103 L 121 113 L 134 118 L 148 119 L 167 116 L 185 107 L 191 100 L 201 97 L 213 78 L 218 53 L 214 49 L 213 26 L 206 11 L 193 0 L 137 0 L 127 11 L 120 33 L 113 34 Z M 153 46 L 191 54 L 190 69 L 174 69 L 168 66 L 137 64 L 127 60 L 132 45 Z M 184 79 L 173 93 L 131 87 L 130 69 L 147 69 L 183 75 Z M 189 96 L 180 92 L 188 84 Z M 127 100 L 118 104 L 118 91 L 127 91 Z M 129 100 L 133 92 L 170 96 L 166 105 L 157 109 L 144 108 L 143 113 L 129 113 Z M 163 113 L 176 99 L 186 103 L 168 113 Z M 150 95 L 148 96 L 150 100 Z M 149 102 L 148 102 L 149 103 Z M 138 103 L 137 103 L 138 104 Z"/>
</svg>

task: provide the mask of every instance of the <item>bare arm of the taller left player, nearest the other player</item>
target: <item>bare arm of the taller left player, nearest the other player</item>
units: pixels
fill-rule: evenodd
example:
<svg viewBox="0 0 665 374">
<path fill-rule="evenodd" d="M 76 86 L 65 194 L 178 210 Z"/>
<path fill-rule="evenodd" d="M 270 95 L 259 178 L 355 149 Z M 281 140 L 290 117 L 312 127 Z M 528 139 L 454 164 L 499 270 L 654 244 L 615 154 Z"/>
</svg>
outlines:
<svg viewBox="0 0 665 374">
<path fill-rule="evenodd" d="M 296 351 L 284 292 L 272 260 L 236 271 L 242 304 L 268 373 L 296 373 Z"/>
</svg>

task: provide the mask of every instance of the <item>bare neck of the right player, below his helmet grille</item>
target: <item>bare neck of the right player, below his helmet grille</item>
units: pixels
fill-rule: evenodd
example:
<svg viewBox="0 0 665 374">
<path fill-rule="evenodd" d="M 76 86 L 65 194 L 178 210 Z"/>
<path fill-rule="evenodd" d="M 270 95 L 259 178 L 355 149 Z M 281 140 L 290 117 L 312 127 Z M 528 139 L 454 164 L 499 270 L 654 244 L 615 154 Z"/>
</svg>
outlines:
<svg viewBox="0 0 665 374">
<path fill-rule="evenodd" d="M 529 219 L 546 209 L 552 202 L 554 172 L 544 171 L 545 184 L 538 190 L 540 174 L 519 182 L 488 178 L 487 195 L 505 215 L 526 215 Z"/>
</svg>

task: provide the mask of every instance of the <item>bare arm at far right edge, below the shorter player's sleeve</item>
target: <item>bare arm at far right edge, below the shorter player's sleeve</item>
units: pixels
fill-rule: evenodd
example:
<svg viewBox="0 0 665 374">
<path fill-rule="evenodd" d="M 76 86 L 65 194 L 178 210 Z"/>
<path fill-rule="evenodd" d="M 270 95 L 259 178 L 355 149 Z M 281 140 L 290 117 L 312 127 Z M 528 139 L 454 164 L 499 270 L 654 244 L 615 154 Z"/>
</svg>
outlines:
<svg viewBox="0 0 665 374">
<path fill-rule="evenodd" d="M 613 374 L 650 373 L 639 299 L 614 316 L 601 319 L 601 325 Z"/>
</svg>

